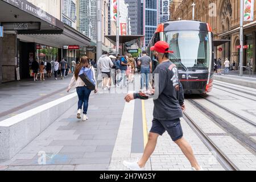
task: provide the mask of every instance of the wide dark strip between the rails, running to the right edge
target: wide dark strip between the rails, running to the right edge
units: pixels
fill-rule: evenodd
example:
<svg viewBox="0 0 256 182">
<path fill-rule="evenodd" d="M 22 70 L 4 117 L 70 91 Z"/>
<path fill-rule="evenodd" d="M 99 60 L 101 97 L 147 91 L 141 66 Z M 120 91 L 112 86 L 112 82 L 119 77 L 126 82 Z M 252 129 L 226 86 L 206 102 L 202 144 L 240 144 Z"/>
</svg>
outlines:
<svg viewBox="0 0 256 182">
<path fill-rule="evenodd" d="M 188 102 L 192 104 L 194 107 L 196 107 L 198 110 L 201 111 L 206 117 L 208 117 L 212 122 L 216 123 L 218 126 L 220 126 L 226 133 L 230 135 L 230 137 L 234 138 L 239 142 L 243 147 L 250 150 L 253 154 L 256 152 L 256 143 L 253 138 L 251 138 L 249 135 L 243 133 L 240 129 L 233 126 L 231 123 L 226 121 L 225 119 L 219 117 L 203 105 L 199 104 L 198 102 L 188 99 Z"/>
</svg>

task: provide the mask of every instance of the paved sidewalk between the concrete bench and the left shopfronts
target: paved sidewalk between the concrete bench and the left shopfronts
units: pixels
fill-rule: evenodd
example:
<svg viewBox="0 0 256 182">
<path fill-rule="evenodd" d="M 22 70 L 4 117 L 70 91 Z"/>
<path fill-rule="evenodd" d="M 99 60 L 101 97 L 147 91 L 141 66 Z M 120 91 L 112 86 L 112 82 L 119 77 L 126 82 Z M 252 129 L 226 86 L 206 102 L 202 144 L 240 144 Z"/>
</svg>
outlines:
<svg viewBox="0 0 256 182">
<path fill-rule="evenodd" d="M 16 114 L 46 104 L 57 98 L 67 96 L 66 92 L 72 75 L 64 80 L 55 80 L 54 76 L 45 81 L 33 81 L 33 78 L 0 85 L 0 122 Z M 40 78 L 39 78 L 40 79 Z"/>
</svg>

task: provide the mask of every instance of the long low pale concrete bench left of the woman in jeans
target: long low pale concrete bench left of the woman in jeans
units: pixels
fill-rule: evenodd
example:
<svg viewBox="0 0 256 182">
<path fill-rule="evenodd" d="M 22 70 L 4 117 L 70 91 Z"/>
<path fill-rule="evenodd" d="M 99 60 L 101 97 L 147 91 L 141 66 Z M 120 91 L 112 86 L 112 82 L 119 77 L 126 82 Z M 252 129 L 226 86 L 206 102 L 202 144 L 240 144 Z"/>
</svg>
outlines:
<svg viewBox="0 0 256 182">
<path fill-rule="evenodd" d="M 13 158 L 76 102 L 77 93 L 0 121 L 0 160 Z"/>
</svg>

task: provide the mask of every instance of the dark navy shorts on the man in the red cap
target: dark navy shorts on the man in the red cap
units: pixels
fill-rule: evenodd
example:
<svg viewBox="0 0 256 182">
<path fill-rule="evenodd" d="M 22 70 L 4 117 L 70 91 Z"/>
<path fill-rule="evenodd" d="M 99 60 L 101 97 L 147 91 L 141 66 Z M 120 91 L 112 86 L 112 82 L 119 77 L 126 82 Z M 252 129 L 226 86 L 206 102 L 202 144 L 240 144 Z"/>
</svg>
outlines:
<svg viewBox="0 0 256 182">
<path fill-rule="evenodd" d="M 167 121 L 153 119 L 152 123 L 153 124 L 150 130 L 151 133 L 156 133 L 162 136 L 164 132 L 167 131 L 172 138 L 172 141 L 174 142 L 183 137 L 183 131 L 180 125 L 180 118 Z"/>
</svg>

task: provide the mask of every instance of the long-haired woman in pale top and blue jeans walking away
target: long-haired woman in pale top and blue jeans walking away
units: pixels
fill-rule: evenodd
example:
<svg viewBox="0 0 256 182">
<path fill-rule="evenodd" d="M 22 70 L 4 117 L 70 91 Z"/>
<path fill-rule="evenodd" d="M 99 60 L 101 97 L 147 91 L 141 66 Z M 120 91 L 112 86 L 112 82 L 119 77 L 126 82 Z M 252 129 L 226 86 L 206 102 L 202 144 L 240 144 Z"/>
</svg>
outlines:
<svg viewBox="0 0 256 182">
<path fill-rule="evenodd" d="M 82 81 L 82 79 L 79 77 L 79 75 L 81 75 L 81 73 L 84 73 L 86 68 L 87 69 L 89 68 L 92 71 L 93 81 L 95 84 L 94 93 L 97 93 L 95 70 L 92 66 L 90 66 L 88 57 L 86 57 L 86 56 L 83 56 L 81 58 L 81 61 L 80 61 L 79 65 L 77 65 L 77 67 L 75 69 L 75 74 L 73 75 L 71 82 L 67 89 L 67 92 L 69 92 L 69 90 L 71 90 L 72 86 L 76 87 L 77 96 L 79 97 L 78 109 L 77 109 L 77 118 L 78 119 L 81 119 L 82 105 L 84 105 L 82 121 L 88 120 L 87 111 L 88 111 L 88 106 L 89 106 L 89 96 L 90 96 L 90 93 L 92 92 L 90 89 L 88 89 L 86 87 L 84 81 Z"/>
</svg>

